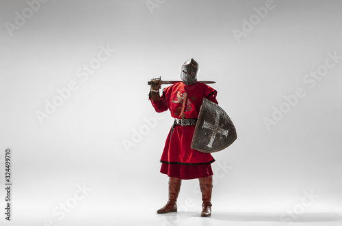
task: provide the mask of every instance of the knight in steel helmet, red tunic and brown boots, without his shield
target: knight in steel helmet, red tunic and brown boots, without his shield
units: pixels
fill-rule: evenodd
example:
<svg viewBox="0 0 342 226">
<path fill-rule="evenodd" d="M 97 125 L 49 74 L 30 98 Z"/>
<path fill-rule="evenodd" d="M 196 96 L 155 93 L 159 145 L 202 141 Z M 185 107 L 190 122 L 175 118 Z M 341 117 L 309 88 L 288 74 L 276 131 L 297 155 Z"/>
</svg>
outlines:
<svg viewBox="0 0 342 226">
<path fill-rule="evenodd" d="M 166 206 L 157 213 L 176 212 L 176 200 L 181 188 L 181 180 L 198 178 L 202 192 L 201 216 L 211 216 L 211 190 L 213 187 L 213 171 L 211 163 L 215 161 L 209 153 L 202 153 L 190 148 L 194 136 L 195 125 L 203 98 L 218 103 L 215 89 L 199 83 L 198 63 L 194 59 L 185 61 L 182 66 L 181 79 L 163 89 L 159 96 L 161 81 L 153 79 L 149 98 L 155 111 L 170 110 L 174 117 L 163 154 L 161 155 L 161 173 L 169 176 L 169 199 Z"/>
</svg>

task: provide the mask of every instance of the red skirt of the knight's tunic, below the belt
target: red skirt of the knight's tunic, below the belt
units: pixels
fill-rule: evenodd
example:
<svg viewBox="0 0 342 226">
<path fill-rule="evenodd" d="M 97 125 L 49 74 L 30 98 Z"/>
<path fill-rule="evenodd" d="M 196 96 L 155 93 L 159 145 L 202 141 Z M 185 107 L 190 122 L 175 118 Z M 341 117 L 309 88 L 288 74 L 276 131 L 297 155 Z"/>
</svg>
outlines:
<svg viewBox="0 0 342 226">
<path fill-rule="evenodd" d="M 161 173 L 183 180 L 213 175 L 213 156 L 190 148 L 194 130 L 195 125 L 171 128 L 161 155 Z"/>
</svg>

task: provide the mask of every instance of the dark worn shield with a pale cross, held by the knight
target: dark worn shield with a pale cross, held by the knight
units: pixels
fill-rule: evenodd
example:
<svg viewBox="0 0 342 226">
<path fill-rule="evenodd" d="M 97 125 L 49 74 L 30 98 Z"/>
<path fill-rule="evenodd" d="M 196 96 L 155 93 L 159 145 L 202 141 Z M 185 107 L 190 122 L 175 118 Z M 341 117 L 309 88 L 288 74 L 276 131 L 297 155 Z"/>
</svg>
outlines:
<svg viewBox="0 0 342 226">
<path fill-rule="evenodd" d="M 191 148 L 212 153 L 224 150 L 237 139 L 235 126 L 218 104 L 203 98 Z"/>
</svg>

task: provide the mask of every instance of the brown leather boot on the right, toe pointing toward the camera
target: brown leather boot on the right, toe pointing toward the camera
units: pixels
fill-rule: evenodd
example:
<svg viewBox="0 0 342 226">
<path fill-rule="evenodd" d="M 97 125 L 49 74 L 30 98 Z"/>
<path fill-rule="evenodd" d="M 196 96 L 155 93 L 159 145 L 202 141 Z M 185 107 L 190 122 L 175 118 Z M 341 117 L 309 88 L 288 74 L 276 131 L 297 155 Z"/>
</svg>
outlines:
<svg viewBox="0 0 342 226">
<path fill-rule="evenodd" d="M 199 178 L 199 180 L 203 201 L 200 216 L 211 216 L 211 190 L 213 188 L 213 177 L 209 175 L 205 178 Z"/>
</svg>

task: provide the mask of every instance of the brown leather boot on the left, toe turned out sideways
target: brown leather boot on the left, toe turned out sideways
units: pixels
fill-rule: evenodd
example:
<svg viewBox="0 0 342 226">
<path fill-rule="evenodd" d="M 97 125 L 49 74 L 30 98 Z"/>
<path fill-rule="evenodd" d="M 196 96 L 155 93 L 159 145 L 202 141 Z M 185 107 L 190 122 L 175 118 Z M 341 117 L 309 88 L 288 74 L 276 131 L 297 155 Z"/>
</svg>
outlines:
<svg viewBox="0 0 342 226">
<path fill-rule="evenodd" d="M 179 178 L 169 177 L 169 200 L 166 205 L 157 210 L 158 214 L 166 214 L 167 212 L 177 212 L 177 197 L 179 190 L 181 190 L 182 180 Z"/>
</svg>

